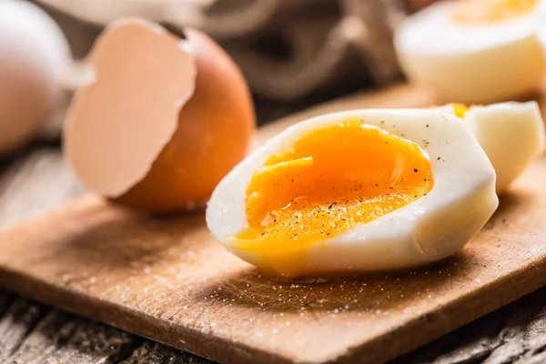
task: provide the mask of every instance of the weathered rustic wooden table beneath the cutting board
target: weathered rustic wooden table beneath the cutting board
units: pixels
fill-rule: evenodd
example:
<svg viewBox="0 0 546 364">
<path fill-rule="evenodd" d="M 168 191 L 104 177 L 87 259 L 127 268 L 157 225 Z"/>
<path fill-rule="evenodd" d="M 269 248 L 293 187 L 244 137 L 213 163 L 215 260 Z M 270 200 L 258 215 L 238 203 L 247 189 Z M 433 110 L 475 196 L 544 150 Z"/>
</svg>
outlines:
<svg viewBox="0 0 546 364">
<path fill-rule="evenodd" d="M 266 106 L 258 115 L 268 114 Z M 291 111 L 291 110 L 286 110 Z M 83 193 L 58 142 L 36 143 L 0 166 L 0 227 Z M 0 291 L 0 362 L 210 363 L 56 308 Z M 417 349 L 396 363 L 545 363 L 546 288 Z"/>
</svg>

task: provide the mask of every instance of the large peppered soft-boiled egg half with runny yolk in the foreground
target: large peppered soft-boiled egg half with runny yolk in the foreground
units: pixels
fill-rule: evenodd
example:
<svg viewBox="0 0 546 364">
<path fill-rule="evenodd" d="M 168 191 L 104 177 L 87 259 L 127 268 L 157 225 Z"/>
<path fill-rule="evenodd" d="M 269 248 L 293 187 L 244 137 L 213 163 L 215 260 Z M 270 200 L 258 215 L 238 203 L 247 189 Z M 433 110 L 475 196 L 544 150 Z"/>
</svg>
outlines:
<svg viewBox="0 0 546 364">
<path fill-rule="evenodd" d="M 207 226 L 273 274 L 377 271 L 450 256 L 497 205 L 494 169 L 459 117 L 353 110 L 259 147 L 218 184 Z"/>
</svg>

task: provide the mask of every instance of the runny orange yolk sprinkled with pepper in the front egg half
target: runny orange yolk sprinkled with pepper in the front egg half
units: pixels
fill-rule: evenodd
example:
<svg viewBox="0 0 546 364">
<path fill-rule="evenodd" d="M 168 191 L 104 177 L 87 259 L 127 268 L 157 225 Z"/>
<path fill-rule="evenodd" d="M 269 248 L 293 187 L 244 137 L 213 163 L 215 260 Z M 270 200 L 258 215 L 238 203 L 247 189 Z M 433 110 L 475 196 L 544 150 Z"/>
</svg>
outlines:
<svg viewBox="0 0 546 364">
<path fill-rule="evenodd" d="M 430 160 L 417 144 L 358 120 L 328 126 L 255 171 L 238 248 L 307 247 L 404 207 L 432 186 Z"/>
</svg>

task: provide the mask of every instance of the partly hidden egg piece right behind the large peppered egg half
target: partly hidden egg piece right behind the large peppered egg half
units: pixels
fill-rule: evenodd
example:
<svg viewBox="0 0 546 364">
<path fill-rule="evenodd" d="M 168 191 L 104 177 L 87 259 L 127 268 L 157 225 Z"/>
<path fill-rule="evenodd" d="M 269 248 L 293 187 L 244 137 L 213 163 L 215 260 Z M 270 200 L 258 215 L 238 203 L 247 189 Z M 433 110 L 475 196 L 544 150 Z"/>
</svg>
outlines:
<svg viewBox="0 0 546 364">
<path fill-rule="evenodd" d="M 442 106 L 442 112 L 463 117 L 497 174 L 501 194 L 538 157 L 546 146 L 539 105 L 508 102 L 490 106 Z"/>
</svg>

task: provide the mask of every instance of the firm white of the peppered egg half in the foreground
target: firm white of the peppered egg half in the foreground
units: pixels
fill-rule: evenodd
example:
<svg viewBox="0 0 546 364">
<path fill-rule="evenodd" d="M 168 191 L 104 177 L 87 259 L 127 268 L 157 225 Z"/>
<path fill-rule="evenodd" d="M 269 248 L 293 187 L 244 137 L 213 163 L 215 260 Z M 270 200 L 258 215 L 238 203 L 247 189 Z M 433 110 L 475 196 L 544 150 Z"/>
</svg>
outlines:
<svg viewBox="0 0 546 364">
<path fill-rule="evenodd" d="M 494 169 L 460 118 L 435 110 L 352 110 L 290 126 L 235 167 L 208 202 L 207 226 L 212 234 L 239 258 L 259 268 L 267 252 L 240 250 L 235 238 L 248 228 L 250 178 L 268 157 L 291 147 L 300 137 L 348 118 L 418 144 L 430 157 L 434 185 L 428 195 L 367 224 L 309 246 L 277 251 L 286 259 L 303 253 L 305 261 L 299 262 L 303 264 L 298 264 L 297 274 L 409 268 L 445 258 L 462 248 L 497 208 Z"/>
</svg>

